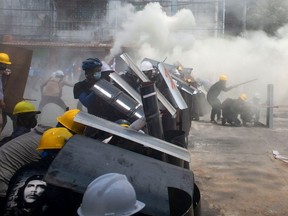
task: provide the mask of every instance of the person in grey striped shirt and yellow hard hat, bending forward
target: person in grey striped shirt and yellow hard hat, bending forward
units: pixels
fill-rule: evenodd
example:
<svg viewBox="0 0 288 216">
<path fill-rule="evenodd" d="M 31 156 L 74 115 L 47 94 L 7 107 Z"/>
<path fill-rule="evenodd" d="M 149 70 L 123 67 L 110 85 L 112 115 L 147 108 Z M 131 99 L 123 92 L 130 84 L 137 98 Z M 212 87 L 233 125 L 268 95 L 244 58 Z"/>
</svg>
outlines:
<svg viewBox="0 0 288 216">
<path fill-rule="evenodd" d="M 72 134 L 83 134 L 85 125 L 74 121 L 80 110 L 68 110 L 57 118 L 57 127 L 66 127 Z M 48 126 L 38 125 L 31 132 L 17 137 L 0 147 L 0 215 L 11 177 L 22 166 L 40 160 L 36 150 Z"/>
</svg>

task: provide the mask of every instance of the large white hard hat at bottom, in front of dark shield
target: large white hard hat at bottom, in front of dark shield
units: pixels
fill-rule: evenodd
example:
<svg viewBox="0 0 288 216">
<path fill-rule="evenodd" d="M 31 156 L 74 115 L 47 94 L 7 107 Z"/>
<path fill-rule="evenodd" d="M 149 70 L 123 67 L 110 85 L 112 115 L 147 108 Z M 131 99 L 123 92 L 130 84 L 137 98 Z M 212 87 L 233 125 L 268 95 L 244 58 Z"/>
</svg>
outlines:
<svg viewBox="0 0 288 216">
<path fill-rule="evenodd" d="M 80 216 L 128 216 L 144 206 L 136 200 L 135 190 L 125 175 L 108 173 L 88 185 L 77 213 Z"/>
</svg>

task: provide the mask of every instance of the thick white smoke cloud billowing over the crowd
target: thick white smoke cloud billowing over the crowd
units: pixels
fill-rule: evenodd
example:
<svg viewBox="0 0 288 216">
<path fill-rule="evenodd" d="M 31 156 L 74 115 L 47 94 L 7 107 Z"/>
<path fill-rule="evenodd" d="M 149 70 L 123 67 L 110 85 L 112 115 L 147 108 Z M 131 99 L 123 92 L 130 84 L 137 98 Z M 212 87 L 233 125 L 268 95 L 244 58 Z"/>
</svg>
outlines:
<svg viewBox="0 0 288 216">
<path fill-rule="evenodd" d="M 158 3 L 150 3 L 134 13 L 130 5 L 129 11 L 122 29 L 115 34 L 110 59 L 121 54 L 121 47 L 137 47 L 138 57 L 133 58 L 138 64 L 145 57 L 159 61 L 167 57 L 166 63 L 180 61 L 194 69 L 196 78 L 212 83 L 226 74 L 228 86 L 257 78 L 228 95 L 246 93 L 252 97 L 258 92 L 265 102 L 267 84 L 273 84 L 275 104 L 287 104 L 288 26 L 279 29 L 277 38 L 248 32 L 245 37 L 195 39 L 191 28 L 197 19 L 190 10 L 169 17 Z"/>
</svg>

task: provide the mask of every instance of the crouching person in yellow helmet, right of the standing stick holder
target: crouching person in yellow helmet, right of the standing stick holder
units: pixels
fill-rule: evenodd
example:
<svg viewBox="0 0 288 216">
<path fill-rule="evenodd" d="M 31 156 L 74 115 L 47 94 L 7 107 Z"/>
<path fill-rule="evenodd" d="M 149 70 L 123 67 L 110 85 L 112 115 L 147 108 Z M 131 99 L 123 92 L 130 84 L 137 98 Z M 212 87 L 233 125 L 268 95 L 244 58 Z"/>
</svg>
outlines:
<svg viewBox="0 0 288 216">
<path fill-rule="evenodd" d="M 237 99 L 227 98 L 222 103 L 222 125 L 226 123 L 231 126 L 241 126 L 242 122 L 238 118 L 246 108 L 245 101 L 247 100 L 246 94 L 241 94 Z"/>
</svg>

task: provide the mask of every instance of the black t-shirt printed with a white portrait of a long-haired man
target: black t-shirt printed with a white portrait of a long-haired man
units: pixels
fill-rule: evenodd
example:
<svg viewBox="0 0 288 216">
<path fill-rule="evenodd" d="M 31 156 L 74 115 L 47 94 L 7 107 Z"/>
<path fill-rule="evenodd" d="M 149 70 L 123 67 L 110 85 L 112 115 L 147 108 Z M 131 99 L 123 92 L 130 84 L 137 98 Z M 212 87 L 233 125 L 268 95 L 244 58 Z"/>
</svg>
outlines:
<svg viewBox="0 0 288 216">
<path fill-rule="evenodd" d="M 73 216 L 82 195 L 48 184 L 44 175 L 52 159 L 25 165 L 12 177 L 4 216 Z"/>
</svg>

